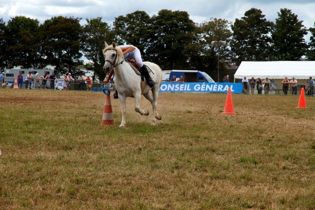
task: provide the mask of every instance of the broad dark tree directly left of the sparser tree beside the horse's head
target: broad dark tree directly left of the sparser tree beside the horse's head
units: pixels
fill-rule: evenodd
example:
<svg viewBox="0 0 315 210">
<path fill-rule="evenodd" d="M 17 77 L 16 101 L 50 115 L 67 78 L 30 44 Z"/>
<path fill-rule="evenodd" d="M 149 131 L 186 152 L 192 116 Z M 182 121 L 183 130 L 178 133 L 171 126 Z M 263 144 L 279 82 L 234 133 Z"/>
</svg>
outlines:
<svg viewBox="0 0 315 210">
<path fill-rule="evenodd" d="M 80 26 L 80 19 L 53 17 L 45 20 L 40 31 L 47 62 L 55 65 L 55 69 L 59 70 L 61 74 L 69 72 L 72 75 L 78 75 L 81 73 L 83 29 Z"/>
</svg>

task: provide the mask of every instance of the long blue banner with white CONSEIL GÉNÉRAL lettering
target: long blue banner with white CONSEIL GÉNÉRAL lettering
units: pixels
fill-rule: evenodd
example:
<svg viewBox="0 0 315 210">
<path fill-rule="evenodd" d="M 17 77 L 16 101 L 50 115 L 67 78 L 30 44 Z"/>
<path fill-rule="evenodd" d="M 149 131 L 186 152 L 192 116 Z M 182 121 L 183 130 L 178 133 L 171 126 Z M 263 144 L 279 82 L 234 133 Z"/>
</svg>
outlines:
<svg viewBox="0 0 315 210">
<path fill-rule="evenodd" d="M 242 83 L 210 83 L 210 82 L 162 82 L 159 92 L 198 92 L 198 93 L 242 93 Z"/>
</svg>

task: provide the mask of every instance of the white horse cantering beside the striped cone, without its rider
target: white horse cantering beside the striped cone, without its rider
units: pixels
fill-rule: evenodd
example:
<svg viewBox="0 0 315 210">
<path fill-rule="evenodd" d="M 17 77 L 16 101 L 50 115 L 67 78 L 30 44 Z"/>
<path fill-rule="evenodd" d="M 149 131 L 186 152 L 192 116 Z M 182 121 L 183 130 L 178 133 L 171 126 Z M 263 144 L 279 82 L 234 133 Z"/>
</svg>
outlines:
<svg viewBox="0 0 315 210">
<path fill-rule="evenodd" d="M 109 71 L 114 69 L 115 73 L 115 88 L 118 91 L 118 96 L 122 105 L 121 113 L 122 120 L 119 127 L 125 127 L 126 125 L 126 98 L 134 97 L 135 98 L 135 111 L 139 112 L 141 115 L 149 115 L 148 110 L 140 109 L 140 99 L 141 94 L 144 95 L 152 104 L 152 121 L 151 125 L 155 125 L 155 118 L 161 120 L 162 117 L 157 113 L 157 95 L 158 90 L 162 83 L 162 69 L 151 62 L 144 62 L 148 67 L 148 71 L 152 80 L 155 82 L 155 85 L 151 89 L 146 81 L 141 82 L 141 76 L 136 74 L 132 69 L 129 63 L 124 61 L 123 52 L 119 47 L 116 47 L 116 44 L 108 46 L 105 42 L 105 49 L 103 50 L 105 64 L 103 66 L 104 71 Z M 151 71 L 150 71 L 151 69 Z M 146 79 L 145 79 L 146 80 Z M 151 96 L 150 90 L 152 90 Z"/>
</svg>

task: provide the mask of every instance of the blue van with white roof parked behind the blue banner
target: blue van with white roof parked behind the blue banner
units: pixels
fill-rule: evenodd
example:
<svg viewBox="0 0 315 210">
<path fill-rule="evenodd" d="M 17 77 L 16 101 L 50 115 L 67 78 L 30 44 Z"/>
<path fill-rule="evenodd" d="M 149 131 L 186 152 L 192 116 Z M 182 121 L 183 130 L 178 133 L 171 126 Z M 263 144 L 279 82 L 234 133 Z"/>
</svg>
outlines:
<svg viewBox="0 0 315 210">
<path fill-rule="evenodd" d="M 176 81 L 180 76 L 184 77 L 184 82 L 215 82 L 206 72 L 197 70 L 172 70 L 169 73 L 169 81 L 176 76 Z"/>
</svg>

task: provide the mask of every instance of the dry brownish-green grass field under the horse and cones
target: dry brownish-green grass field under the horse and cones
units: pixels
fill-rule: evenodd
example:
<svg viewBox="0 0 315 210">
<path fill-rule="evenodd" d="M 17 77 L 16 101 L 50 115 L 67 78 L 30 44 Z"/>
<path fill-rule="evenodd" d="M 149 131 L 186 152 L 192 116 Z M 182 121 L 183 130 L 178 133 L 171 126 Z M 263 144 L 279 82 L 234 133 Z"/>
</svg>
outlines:
<svg viewBox="0 0 315 210">
<path fill-rule="evenodd" d="M 1 89 L 0 209 L 315 209 L 315 97 Z M 150 109 L 145 99 L 141 107 Z"/>
</svg>

